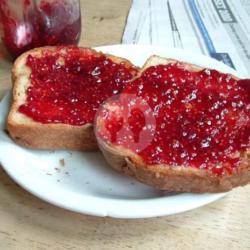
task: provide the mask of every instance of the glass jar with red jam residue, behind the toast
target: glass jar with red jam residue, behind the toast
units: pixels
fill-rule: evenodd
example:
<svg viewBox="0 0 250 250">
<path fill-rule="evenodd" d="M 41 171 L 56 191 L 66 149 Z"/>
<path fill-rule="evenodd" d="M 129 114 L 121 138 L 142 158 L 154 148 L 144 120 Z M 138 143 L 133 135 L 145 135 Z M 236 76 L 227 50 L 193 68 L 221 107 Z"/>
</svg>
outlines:
<svg viewBox="0 0 250 250">
<path fill-rule="evenodd" d="M 15 58 L 44 45 L 77 44 L 79 0 L 0 0 L 0 35 Z"/>
</svg>

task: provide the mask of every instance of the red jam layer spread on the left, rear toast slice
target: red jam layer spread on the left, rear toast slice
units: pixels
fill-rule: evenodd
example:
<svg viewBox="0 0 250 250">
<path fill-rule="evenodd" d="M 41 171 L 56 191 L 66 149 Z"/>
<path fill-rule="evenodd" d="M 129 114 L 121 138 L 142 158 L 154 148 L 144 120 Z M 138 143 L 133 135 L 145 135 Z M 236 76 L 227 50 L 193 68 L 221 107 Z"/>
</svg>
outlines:
<svg viewBox="0 0 250 250">
<path fill-rule="evenodd" d="M 29 55 L 26 65 L 31 86 L 19 111 L 41 123 L 93 123 L 99 105 L 137 73 L 135 67 L 72 46 Z"/>
</svg>

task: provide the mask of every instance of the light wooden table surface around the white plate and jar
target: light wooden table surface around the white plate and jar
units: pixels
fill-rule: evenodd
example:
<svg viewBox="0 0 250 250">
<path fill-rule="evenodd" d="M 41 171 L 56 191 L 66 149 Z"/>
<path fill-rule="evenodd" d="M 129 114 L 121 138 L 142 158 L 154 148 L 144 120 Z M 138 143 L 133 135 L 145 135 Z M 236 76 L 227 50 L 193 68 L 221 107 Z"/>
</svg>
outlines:
<svg viewBox="0 0 250 250">
<path fill-rule="evenodd" d="M 83 0 L 82 46 L 120 43 L 129 0 Z M 0 47 L 0 98 L 11 62 Z M 1 152 L 0 152 L 1 153 Z M 250 185 L 183 214 L 137 220 L 98 218 L 45 203 L 0 167 L 0 249 L 250 249 Z"/>
</svg>

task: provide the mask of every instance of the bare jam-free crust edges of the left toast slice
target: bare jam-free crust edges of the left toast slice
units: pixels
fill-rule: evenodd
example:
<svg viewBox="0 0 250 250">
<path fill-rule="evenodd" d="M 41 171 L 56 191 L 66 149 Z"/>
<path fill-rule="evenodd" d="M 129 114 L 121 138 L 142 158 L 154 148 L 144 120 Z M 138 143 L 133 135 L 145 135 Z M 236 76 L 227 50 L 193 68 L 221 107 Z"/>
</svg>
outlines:
<svg viewBox="0 0 250 250">
<path fill-rule="evenodd" d="M 86 53 L 102 55 L 90 48 L 83 48 Z M 56 47 L 46 46 L 25 52 L 12 68 L 12 104 L 7 118 L 7 130 L 10 137 L 18 144 L 35 149 L 98 150 L 93 132 L 93 124 L 82 126 L 68 124 L 43 124 L 18 112 L 25 101 L 25 91 L 29 86 L 30 69 L 25 65 L 28 55 L 41 56 L 43 51 L 54 51 Z M 115 63 L 126 67 L 134 66 L 130 61 L 113 55 L 106 55 Z"/>
</svg>

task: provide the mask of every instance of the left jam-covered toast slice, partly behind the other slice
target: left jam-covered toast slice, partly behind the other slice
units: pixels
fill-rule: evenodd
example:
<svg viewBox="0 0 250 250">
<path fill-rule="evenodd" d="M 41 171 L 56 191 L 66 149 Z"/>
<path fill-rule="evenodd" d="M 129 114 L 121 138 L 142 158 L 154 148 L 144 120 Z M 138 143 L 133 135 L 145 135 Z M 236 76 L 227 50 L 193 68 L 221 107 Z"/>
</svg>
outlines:
<svg viewBox="0 0 250 250">
<path fill-rule="evenodd" d="M 137 71 L 126 59 L 89 48 L 30 50 L 12 69 L 9 135 L 16 143 L 35 149 L 97 149 L 96 110 Z"/>
</svg>

